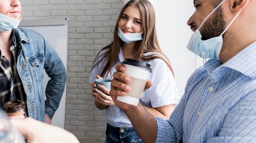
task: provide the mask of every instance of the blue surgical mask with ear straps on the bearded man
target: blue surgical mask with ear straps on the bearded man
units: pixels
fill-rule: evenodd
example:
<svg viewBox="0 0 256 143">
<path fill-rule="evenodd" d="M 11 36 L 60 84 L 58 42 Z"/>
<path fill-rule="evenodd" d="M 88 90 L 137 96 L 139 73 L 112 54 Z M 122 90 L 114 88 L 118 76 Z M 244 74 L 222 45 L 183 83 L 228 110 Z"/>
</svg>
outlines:
<svg viewBox="0 0 256 143">
<path fill-rule="evenodd" d="M 214 12 L 216 11 L 216 9 L 218 9 L 218 7 L 225 2 L 225 0 L 223 0 L 202 22 L 202 24 L 205 22 L 205 20 L 207 20 L 207 18 Z M 199 29 L 201 28 L 202 24 L 199 26 L 199 28 L 197 30 L 195 30 L 195 32 L 193 33 L 193 35 L 191 36 L 191 39 L 188 43 L 188 45 L 186 46 L 186 48 L 188 48 L 191 52 L 195 53 L 196 55 L 200 56 L 201 58 L 213 58 L 213 59 L 220 59 L 219 55 L 220 55 L 220 50 L 222 48 L 222 44 L 223 44 L 223 39 L 222 39 L 222 35 L 226 32 L 227 28 L 229 28 L 229 26 L 234 22 L 234 20 L 236 19 L 236 17 L 241 13 L 241 11 L 233 18 L 233 20 L 231 20 L 231 22 L 229 23 L 229 25 L 225 28 L 225 30 L 220 34 L 220 36 L 218 37 L 212 37 L 210 39 L 207 40 L 202 40 L 202 35 L 199 31 Z"/>
</svg>

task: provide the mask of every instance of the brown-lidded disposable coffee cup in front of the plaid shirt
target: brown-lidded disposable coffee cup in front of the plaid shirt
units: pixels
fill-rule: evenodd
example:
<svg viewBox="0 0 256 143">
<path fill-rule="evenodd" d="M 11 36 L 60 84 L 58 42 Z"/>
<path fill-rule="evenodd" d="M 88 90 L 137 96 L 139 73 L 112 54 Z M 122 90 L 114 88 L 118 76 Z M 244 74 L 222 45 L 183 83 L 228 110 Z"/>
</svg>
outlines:
<svg viewBox="0 0 256 143">
<path fill-rule="evenodd" d="M 25 105 L 20 100 L 11 100 L 4 103 L 3 110 L 8 116 L 24 115 Z"/>
</svg>

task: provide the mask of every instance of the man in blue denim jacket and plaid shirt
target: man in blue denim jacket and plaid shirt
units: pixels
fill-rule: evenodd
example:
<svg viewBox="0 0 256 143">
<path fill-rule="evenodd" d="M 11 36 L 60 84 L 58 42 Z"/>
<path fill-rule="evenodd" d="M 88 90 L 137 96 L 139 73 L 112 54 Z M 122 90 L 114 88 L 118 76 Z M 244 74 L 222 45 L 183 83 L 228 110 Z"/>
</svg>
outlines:
<svg viewBox="0 0 256 143">
<path fill-rule="evenodd" d="M 26 117 L 50 124 L 65 89 L 65 67 L 42 35 L 17 28 L 20 10 L 19 0 L 0 1 L 0 107 L 10 100 L 22 100 Z M 46 100 L 44 69 L 51 78 Z"/>
</svg>

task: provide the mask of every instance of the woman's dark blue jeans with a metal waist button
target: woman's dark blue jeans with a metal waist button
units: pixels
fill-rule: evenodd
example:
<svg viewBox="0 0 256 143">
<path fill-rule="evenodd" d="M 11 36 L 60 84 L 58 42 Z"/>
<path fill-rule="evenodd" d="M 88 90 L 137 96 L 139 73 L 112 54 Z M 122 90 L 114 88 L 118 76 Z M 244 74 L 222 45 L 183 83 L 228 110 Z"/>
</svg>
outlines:
<svg viewBox="0 0 256 143">
<path fill-rule="evenodd" d="M 106 143 L 144 143 L 134 128 L 116 128 L 107 124 Z"/>
</svg>

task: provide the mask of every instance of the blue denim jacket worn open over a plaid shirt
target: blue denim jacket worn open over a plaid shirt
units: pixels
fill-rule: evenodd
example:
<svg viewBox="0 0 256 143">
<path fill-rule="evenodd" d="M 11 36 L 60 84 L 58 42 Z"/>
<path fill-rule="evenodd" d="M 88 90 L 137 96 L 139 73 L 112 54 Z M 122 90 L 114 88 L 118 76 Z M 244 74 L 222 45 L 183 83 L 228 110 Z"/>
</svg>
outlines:
<svg viewBox="0 0 256 143">
<path fill-rule="evenodd" d="M 52 119 L 63 95 L 66 71 L 54 48 L 34 30 L 15 28 L 18 41 L 17 70 L 27 95 L 29 117 L 45 122 Z M 50 80 L 44 95 L 44 69 Z"/>
</svg>

